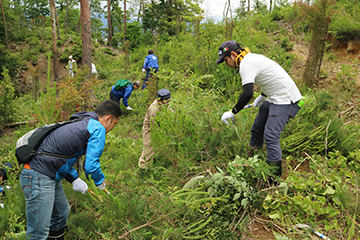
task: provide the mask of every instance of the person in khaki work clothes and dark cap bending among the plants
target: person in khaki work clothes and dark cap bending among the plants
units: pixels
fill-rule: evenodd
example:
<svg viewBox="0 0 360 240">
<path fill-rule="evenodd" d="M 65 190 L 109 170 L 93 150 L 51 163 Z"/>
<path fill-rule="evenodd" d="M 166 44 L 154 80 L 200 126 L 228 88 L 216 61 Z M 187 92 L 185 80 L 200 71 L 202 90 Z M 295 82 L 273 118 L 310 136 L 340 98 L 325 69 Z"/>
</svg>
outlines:
<svg viewBox="0 0 360 240">
<path fill-rule="evenodd" d="M 167 89 L 160 89 L 157 93 L 157 98 L 148 108 L 143 127 L 142 127 L 142 135 L 143 135 L 143 151 L 139 158 L 139 167 L 142 169 L 146 169 L 147 165 L 150 161 L 153 160 L 152 156 L 154 155 L 154 150 L 151 146 L 151 127 L 154 124 L 156 118 L 156 112 L 160 111 L 164 105 L 167 105 L 170 101 L 171 94 Z"/>
</svg>

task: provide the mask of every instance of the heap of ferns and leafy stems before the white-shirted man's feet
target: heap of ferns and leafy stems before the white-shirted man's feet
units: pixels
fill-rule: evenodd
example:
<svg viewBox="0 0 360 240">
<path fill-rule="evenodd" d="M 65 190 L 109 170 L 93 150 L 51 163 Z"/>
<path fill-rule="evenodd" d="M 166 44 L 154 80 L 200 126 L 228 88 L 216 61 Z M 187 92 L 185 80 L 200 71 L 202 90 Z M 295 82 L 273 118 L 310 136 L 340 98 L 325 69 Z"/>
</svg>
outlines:
<svg viewBox="0 0 360 240">
<path fill-rule="evenodd" d="M 237 156 L 225 171 L 217 168 L 216 172 L 207 171 L 206 176 L 198 175 L 188 181 L 172 195 L 175 203 L 184 203 L 192 210 L 182 219 L 183 223 L 189 222 L 183 238 L 234 238 L 241 230 L 236 222 L 243 220 L 249 208 L 258 207 L 259 183 L 267 174 L 267 164 L 258 156 Z"/>
</svg>

